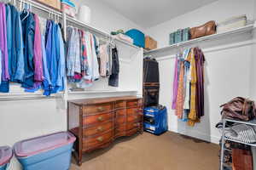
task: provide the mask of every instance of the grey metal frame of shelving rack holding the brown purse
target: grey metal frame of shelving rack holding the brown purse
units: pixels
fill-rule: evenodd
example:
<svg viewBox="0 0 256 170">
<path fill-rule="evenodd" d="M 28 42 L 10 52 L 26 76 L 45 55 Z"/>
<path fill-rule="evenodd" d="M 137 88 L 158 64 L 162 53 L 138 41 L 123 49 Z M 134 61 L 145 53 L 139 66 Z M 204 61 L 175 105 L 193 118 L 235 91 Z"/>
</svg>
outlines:
<svg viewBox="0 0 256 170">
<path fill-rule="evenodd" d="M 224 170 L 224 142 L 225 140 L 231 141 L 231 142 L 236 142 L 239 144 L 247 144 L 253 147 L 256 147 L 256 144 L 248 144 L 245 142 L 241 142 L 238 140 L 234 140 L 234 139 L 228 139 L 225 137 L 224 133 L 225 133 L 225 125 L 227 122 L 236 122 L 236 123 L 240 123 L 240 124 L 247 124 L 250 126 L 256 126 L 256 119 L 253 119 L 252 121 L 249 122 L 244 122 L 244 121 L 236 121 L 236 120 L 232 120 L 232 119 L 223 119 L 223 129 L 222 129 L 222 139 L 221 139 L 221 156 L 220 156 L 220 170 Z"/>
</svg>

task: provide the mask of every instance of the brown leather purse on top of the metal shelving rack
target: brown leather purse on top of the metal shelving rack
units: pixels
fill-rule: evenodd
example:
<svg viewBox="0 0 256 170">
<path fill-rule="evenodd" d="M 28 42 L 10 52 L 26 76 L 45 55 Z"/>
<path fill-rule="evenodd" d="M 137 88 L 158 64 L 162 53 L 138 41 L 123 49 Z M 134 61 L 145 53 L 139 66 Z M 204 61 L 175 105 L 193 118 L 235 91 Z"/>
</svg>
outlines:
<svg viewBox="0 0 256 170">
<path fill-rule="evenodd" d="M 256 116 L 253 100 L 236 97 L 220 107 L 223 107 L 221 111 L 223 118 L 250 121 Z"/>
</svg>

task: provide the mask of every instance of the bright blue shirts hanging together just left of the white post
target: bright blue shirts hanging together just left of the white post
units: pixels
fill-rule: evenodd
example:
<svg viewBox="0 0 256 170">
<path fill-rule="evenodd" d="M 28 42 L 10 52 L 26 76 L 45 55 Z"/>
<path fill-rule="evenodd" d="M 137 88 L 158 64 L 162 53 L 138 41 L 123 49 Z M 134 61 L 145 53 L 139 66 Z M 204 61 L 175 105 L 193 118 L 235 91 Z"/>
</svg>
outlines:
<svg viewBox="0 0 256 170">
<path fill-rule="evenodd" d="M 52 20 L 47 20 L 45 30 L 46 48 L 43 64 L 45 72 L 44 95 L 55 94 L 63 91 L 65 87 L 65 49 L 58 24 Z M 45 64 L 47 63 L 47 64 Z"/>
</svg>

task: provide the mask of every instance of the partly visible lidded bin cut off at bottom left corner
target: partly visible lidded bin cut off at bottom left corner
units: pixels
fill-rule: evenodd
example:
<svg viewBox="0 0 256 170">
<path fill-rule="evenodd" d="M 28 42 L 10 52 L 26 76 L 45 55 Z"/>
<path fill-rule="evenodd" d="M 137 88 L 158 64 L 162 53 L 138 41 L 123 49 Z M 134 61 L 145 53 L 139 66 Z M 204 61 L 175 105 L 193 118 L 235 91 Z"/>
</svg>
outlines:
<svg viewBox="0 0 256 170">
<path fill-rule="evenodd" d="M 13 157 L 13 150 L 9 146 L 0 147 L 0 170 L 5 170 L 9 166 L 9 161 Z"/>
</svg>

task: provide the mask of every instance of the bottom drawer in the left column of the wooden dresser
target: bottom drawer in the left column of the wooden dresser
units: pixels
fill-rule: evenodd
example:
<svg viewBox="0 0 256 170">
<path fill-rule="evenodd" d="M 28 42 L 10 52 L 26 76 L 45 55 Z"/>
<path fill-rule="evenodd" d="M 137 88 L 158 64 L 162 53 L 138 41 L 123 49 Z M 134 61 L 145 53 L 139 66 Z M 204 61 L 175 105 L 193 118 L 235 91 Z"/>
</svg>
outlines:
<svg viewBox="0 0 256 170">
<path fill-rule="evenodd" d="M 110 130 L 107 133 L 103 133 L 102 135 L 98 135 L 93 138 L 83 139 L 83 149 L 90 150 L 91 148 L 95 148 L 98 145 L 108 143 L 112 139 L 113 139 L 113 130 Z"/>
</svg>

